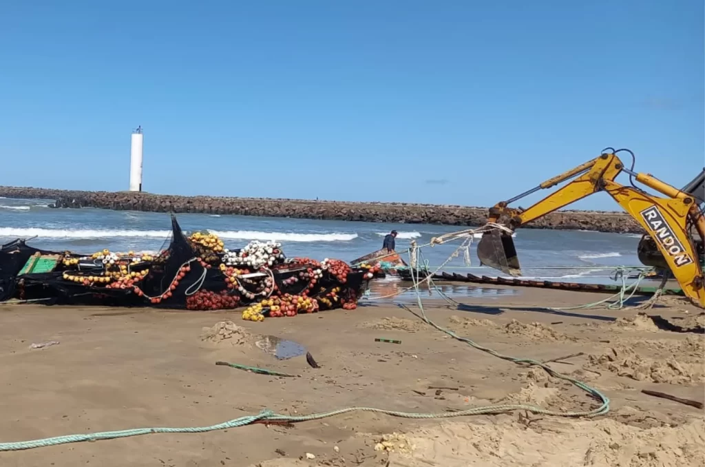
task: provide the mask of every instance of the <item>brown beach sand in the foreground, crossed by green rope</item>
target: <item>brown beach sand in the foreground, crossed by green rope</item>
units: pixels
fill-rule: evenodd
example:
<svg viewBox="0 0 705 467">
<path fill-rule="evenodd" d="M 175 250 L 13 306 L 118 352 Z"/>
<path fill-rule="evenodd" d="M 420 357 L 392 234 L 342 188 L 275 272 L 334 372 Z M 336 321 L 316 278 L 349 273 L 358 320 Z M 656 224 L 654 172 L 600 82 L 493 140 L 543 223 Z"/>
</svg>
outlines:
<svg viewBox="0 0 705 467">
<path fill-rule="evenodd" d="M 574 315 L 511 305 L 575 305 L 601 296 L 525 290 L 463 310 L 427 313 L 478 344 L 539 360 L 611 399 L 599 418 L 510 413 L 412 420 L 357 412 L 289 427 L 152 434 L 0 452 L 2 466 L 700 466 L 703 411 L 640 392 L 703 401 L 703 334 L 659 329 L 637 310 Z M 412 308 L 413 309 L 413 308 Z M 697 331 L 699 310 L 675 301 L 649 310 Z M 602 317 L 616 317 L 603 321 Z M 662 326 L 663 327 L 663 326 Z M 259 336 L 297 341 L 304 356 L 276 360 Z M 375 342 L 376 337 L 402 344 Z M 58 341 L 45 348 L 31 344 Z M 216 366 L 217 360 L 300 377 Z M 429 389 L 446 387 L 451 389 Z M 0 305 L 0 442 L 133 427 L 204 426 L 263 408 L 292 415 L 348 406 L 452 413 L 489 404 L 587 411 L 597 401 L 541 368 L 470 348 L 391 303 L 244 322 L 238 313 Z"/>
</svg>

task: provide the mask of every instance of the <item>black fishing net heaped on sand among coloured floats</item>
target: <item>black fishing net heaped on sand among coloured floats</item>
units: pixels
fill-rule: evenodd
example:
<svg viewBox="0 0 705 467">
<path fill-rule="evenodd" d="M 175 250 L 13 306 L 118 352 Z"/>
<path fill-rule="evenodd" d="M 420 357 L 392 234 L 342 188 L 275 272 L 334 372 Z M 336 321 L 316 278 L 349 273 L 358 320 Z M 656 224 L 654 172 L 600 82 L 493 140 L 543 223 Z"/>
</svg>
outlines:
<svg viewBox="0 0 705 467">
<path fill-rule="evenodd" d="M 60 259 L 54 271 L 18 276 L 27 260 L 36 253 L 59 255 Z M 83 259 L 78 266 L 66 266 L 61 258 L 68 257 Z M 244 287 L 245 291 L 255 293 L 255 298 L 247 298 L 233 286 L 230 278 L 221 272 L 221 264 L 219 255 L 185 236 L 174 216 L 171 217 L 171 238 L 168 240 L 168 246 L 151 261 L 125 265 L 128 272 L 146 274 L 144 279 L 135 283 L 140 290 L 139 294 L 133 286 L 109 288 L 104 284 L 92 285 L 95 282 L 89 281 L 90 277 L 104 276 L 106 267 L 119 267 L 118 265 L 104 265 L 102 260 L 91 260 L 81 255 L 39 250 L 18 240 L 0 248 L 0 301 L 18 298 L 47 305 L 157 308 L 189 308 L 190 303 L 190 308 L 193 308 L 197 302 L 200 305 L 204 301 L 212 301 L 212 295 L 216 294 L 219 297 L 230 297 L 228 301 L 222 302 L 227 303 L 228 308 L 234 308 L 261 300 L 266 294 L 263 292 L 266 292 L 264 289 L 266 280 L 269 280 L 267 278 L 274 279 L 274 284 L 281 293 L 300 295 L 307 291 L 308 296 L 312 298 L 324 297 L 333 290 L 337 290 L 338 295 L 345 299 L 359 297 L 366 284 L 363 280 L 364 272 L 348 272 L 346 284 L 343 285 L 328 271 L 324 271 L 316 284 L 309 287 L 309 279 L 304 272 L 319 265 L 280 265 L 275 267 L 271 274 L 263 272 L 250 278 L 239 277 L 238 284 Z M 65 273 L 71 274 L 76 280 L 67 280 Z M 302 280 L 293 283 L 287 281 L 295 276 L 300 276 Z M 83 278 L 87 280 L 84 282 Z"/>
</svg>

